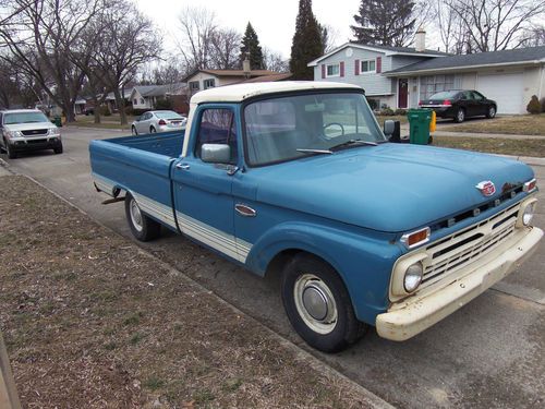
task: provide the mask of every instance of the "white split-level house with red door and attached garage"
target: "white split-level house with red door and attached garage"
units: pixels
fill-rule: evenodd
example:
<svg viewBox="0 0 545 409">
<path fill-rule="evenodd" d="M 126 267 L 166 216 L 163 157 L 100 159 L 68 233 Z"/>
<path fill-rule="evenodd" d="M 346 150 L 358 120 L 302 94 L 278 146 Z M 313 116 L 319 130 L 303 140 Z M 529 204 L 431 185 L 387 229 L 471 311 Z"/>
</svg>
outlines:
<svg viewBox="0 0 545 409">
<path fill-rule="evenodd" d="M 532 95 L 545 97 L 545 47 L 450 56 L 424 47 L 347 43 L 311 61 L 316 81 L 356 84 L 375 107 L 415 108 L 445 89 L 476 89 L 498 103 L 498 113 L 525 113 Z"/>
</svg>

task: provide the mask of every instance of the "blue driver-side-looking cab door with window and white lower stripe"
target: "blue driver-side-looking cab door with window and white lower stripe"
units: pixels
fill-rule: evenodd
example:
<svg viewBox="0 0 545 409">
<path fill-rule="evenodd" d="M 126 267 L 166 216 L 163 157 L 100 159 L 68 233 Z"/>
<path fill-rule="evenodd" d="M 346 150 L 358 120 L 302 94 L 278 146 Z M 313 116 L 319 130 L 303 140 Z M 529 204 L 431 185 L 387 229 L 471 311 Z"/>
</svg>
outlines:
<svg viewBox="0 0 545 409">
<path fill-rule="evenodd" d="M 234 111 L 227 106 L 195 112 L 189 149 L 172 167 L 174 207 L 180 230 L 232 258 L 239 260 L 234 239 L 234 204 L 229 169 L 237 164 Z M 231 157 L 205 161 L 203 145 L 229 145 Z M 209 160 L 209 158 L 206 158 Z"/>
</svg>

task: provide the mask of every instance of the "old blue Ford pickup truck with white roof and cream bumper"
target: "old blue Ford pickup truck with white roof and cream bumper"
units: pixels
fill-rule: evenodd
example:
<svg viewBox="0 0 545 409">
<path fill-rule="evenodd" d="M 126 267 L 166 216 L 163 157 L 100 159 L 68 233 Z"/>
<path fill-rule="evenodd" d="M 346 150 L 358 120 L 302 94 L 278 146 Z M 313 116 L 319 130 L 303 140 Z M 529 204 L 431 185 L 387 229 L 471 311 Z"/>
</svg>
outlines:
<svg viewBox="0 0 545 409">
<path fill-rule="evenodd" d="M 282 82 L 207 89 L 187 128 L 90 143 L 95 187 L 138 240 L 166 227 L 257 275 L 323 351 L 368 326 L 404 340 L 535 250 L 536 181 L 491 155 L 388 142 L 363 89 Z"/>
</svg>

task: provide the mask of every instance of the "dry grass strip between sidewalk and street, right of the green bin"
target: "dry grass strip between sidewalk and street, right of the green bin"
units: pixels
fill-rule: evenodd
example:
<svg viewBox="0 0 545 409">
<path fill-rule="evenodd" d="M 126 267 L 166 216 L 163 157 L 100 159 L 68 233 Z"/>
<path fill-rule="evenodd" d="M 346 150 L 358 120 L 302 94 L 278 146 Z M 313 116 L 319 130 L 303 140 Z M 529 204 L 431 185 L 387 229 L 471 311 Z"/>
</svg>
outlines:
<svg viewBox="0 0 545 409">
<path fill-rule="evenodd" d="M 494 137 L 434 136 L 435 146 L 487 152 L 492 154 L 545 157 L 545 143 L 537 140 L 507 140 Z"/>
</svg>

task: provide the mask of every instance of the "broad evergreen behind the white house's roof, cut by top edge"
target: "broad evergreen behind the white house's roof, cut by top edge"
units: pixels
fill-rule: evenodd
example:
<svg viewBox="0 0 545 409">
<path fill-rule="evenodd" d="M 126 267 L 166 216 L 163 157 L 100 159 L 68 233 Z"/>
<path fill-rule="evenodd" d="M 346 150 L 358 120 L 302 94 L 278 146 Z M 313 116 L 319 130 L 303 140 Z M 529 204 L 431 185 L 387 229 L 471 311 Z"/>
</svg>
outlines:
<svg viewBox="0 0 545 409">
<path fill-rule="evenodd" d="M 358 25 L 351 25 L 358 41 L 382 46 L 405 46 L 414 31 L 414 1 L 362 0 Z"/>
</svg>

